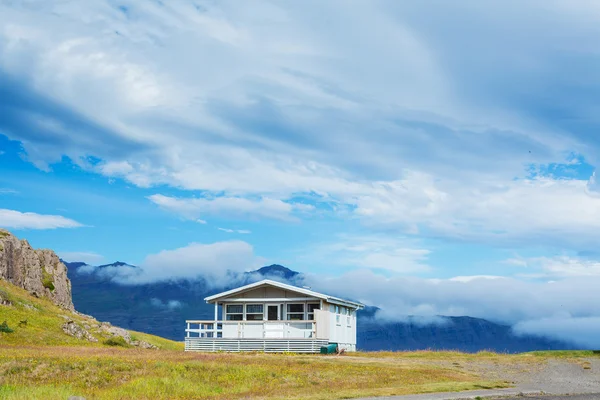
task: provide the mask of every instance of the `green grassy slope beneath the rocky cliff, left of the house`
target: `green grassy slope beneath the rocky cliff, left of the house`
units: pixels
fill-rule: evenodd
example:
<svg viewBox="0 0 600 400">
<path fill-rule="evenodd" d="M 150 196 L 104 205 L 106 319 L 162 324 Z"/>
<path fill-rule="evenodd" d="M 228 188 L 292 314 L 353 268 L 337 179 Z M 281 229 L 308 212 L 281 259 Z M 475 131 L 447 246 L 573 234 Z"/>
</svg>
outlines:
<svg viewBox="0 0 600 400">
<path fill-rule="evenodd" d="M 0 332 L 0 345 L 46 346 L 104 346 L 109 334 L 91 331 L 97 343 L 65 334 L 62 325 L 73 320 L 80 326 L 93 326 L 97 321 L 71 313 L 55 306 L 45 298 L 36 298 L 4 280 L 0 280 L 0 298 L 12 303 L 0 304 L 0 324 L 6 321 L 12 333 Z M 27 324 L 20 324 L 21 321 Z M 140 332 L 131 332 L 132 338 L 144 340 L 161 349 L 183 350 L 183 344 Z"/>
</svg>

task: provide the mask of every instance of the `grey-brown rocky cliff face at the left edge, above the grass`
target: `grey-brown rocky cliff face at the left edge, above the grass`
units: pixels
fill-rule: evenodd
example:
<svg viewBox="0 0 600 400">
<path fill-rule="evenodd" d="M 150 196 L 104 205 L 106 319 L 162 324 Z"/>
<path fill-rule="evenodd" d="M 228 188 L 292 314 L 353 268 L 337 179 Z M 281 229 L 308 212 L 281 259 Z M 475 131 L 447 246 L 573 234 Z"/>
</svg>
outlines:
<svg viewBox="0 0 600 400">
<path fill-rule="evenodd" d="M 67 267 L 52 250 L 33 249 L 0 229 L 0 279 L 27 290 L 36 297 L 47 297 L 59 307 L 73 311 L 71 281 Z"/>
</svg>

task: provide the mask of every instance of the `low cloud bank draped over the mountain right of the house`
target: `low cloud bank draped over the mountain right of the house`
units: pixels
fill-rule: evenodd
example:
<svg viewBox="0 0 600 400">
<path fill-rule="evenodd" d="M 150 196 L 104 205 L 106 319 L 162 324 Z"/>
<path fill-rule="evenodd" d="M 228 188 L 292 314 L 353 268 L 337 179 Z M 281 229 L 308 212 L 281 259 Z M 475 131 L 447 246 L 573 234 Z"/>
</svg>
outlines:
<svg viewBox="0 0 600 400">
<path fill-rule="evenodd" d="M 386 277 L 362 270 L 338 277 L 309 275 L 307 284 L 317 291 L 380 307 L 378 315 L 386 320 L 405 320 L 411 315 L 471 316 L 516 324 L 518 332 L 600 347 L 600 336 L 595 334 L 600 318 L 598 276 L 548 283 L 502 277 Z"/>
</svg>

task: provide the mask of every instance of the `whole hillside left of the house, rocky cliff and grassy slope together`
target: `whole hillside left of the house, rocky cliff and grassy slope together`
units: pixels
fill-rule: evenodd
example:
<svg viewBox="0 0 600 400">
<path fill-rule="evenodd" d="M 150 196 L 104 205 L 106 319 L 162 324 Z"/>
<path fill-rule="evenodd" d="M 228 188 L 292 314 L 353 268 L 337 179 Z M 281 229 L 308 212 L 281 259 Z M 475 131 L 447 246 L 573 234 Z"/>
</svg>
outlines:
<svg viewBox="0 0 600 400">
<path fill-rule="evenodd" d="M 182 349 L 75 311 L 67 267 L 52 250 L 0 230 L 0 343 Z"/>
</svg>

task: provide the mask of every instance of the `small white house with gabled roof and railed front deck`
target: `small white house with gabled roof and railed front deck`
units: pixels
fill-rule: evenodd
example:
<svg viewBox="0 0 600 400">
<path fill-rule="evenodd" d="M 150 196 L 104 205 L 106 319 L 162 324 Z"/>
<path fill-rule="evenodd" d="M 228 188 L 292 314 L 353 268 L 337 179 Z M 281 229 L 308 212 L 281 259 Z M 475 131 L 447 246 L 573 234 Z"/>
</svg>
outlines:
<svg viewBox="0 0 600 400">
<path fill-rule="evenodd" d="M 356 311 L 364 307 L 272 280 L 204 300 L 215 305 L 215 319 L 186 321 L 186 351 L 318 353 L 333 343 L 355 351 Z"/>
</svg>

